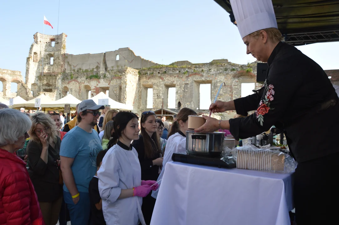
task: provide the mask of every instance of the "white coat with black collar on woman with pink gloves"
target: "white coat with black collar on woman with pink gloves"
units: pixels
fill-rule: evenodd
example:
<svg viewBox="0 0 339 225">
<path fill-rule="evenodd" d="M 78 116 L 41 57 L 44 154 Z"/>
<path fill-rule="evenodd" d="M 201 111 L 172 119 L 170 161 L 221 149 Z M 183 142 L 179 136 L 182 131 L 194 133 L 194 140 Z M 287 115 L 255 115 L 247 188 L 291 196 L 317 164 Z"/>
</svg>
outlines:
<svg viewBox="0 0 339 225">
<path fill-rule="evenodd" d="M 110 148 L 98 170 L 98 187 L 106 224 L 145 225 L 141 211 L 142 198 L 118 199 L 121 189 L 141 185 L 141 167 L 137 151 L 118 141 Z"/>
</svg>

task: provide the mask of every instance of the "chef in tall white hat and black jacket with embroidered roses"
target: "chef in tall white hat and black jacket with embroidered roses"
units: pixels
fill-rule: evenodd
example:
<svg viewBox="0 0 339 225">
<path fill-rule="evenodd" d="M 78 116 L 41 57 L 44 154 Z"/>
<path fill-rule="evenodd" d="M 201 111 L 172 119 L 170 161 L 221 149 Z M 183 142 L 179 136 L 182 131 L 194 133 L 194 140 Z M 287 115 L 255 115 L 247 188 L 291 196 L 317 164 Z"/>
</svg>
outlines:
<svg viewBox="0 0 339 225">
<path fill-rule="evenodd" d="M 231 0 L 246 53 L 267 62 L 264 86 L 247 97 L 217 101 L 212 112 L 236 110 L 246 117 L 207 122 L 196 132 L 230 130 L 238 140 L 273 125 L 284 131 L 295 171 L 296 223 L 331 224 L 339 209 L 339 104 L 324 70 L 297 48 L 282 42 L 271 0 Z M 255 113 L 247 116 L 248 111 Z"/>
</svg>

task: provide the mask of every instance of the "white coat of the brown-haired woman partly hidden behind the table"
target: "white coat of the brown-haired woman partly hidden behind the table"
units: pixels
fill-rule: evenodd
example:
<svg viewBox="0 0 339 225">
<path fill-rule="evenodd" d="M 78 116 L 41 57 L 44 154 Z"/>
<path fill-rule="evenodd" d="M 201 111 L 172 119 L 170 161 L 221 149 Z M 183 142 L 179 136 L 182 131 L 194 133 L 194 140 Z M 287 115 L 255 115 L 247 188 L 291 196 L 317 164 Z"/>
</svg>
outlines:
<svg viewBox="0 0 339 225">
<path fill-rule="evenodd" d="M 166 148 L 165 148 L 164 160 L 162 161 L 162 170 L 157 181 L 162 179 L 162 176 L 164 175 L 164 172 L 165 172 L 166 163 L 172 161 L 173 153 L 184 152 L 184 151 L 186 151 L 186 137 L 182 136 L 180 133 L 175 133 L 171 137 L 168 138 L 167 143 L 166 143 Z M 161 182 L 159 183 L 159 188 L 152 192 L 152 197 L 155 199 L 158 196 L 160 185 L 161 185 Z"/>
</svg>

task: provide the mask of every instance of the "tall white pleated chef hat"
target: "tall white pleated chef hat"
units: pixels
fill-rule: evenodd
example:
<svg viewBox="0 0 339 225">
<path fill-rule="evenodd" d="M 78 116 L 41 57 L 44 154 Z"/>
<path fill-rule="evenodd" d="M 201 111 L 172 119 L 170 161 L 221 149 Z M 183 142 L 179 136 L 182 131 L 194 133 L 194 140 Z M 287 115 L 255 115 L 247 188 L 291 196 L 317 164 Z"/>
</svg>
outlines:
<svg viewBox="0 0 339 225">
<path fill-rule="evenodd" d="M 265 28 L 278 28 L 272 0 L 231 0 L 241 38 Z"/>
</svg>

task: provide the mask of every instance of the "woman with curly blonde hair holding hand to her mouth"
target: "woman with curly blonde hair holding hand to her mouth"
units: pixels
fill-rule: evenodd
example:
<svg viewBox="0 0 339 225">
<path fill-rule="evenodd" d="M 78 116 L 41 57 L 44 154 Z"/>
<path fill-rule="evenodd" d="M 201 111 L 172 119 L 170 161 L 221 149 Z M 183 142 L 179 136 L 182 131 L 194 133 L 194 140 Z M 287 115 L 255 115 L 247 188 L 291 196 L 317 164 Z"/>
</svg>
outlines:
<svg viewBox="0 0 339 225">
<path fill-rule="evenodd" d="M 46 225 L 58 222 L 62 203 L 60 143 L 58 129 L 50 116 L 40 112 L 32 116 L 27 145 L 28 173 L 31 177 Z"/>
</svg>

